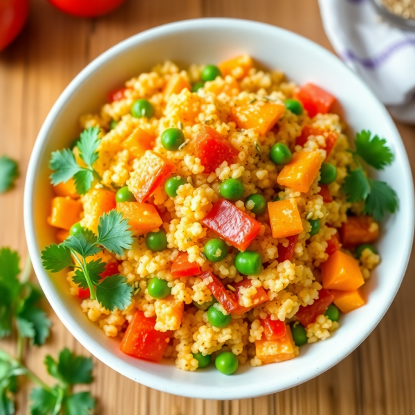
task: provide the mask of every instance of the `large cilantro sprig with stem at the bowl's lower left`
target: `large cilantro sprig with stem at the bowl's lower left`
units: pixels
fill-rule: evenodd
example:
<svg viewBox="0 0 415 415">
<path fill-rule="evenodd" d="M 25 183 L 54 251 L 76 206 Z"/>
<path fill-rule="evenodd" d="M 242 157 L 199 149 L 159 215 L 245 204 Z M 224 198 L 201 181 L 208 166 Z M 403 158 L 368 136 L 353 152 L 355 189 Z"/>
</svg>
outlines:
<svg viewBox="0 0 415 415">
<path fill-rule="evenodd" d="M 131 235 L 127 219 L 122 219 L 120 212 L 111 210 L 100 217 L 98 235 L 82 229 L 59 245 L 46 247 L 42 251 L 43 266 L 52 273 L 73 267 L 73 282 L 80 288 L 89 288 L 91 299 L 96 299 L 108 310 L 113 311 L 116 307 L 122 310 L 131 302 L 133 287 L 120 274 L 101 279 L 106 264 L 101 259 L 87 261 L 86 258 L 101 252 L 102 247 L 122 255 L 124 249 L 131 248 Z"/>
</svg>

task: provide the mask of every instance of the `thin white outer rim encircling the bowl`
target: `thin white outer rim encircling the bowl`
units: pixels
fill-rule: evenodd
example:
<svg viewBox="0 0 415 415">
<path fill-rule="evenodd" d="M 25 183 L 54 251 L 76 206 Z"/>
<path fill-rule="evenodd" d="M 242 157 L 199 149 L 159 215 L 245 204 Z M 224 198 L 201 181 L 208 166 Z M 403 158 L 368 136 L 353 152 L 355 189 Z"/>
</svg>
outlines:
<svg viewBox="0 0 415 415">
<path fill-rule="evenodd" d="M 266 394 L 272 394 L 277 391 L 282 391 L 284 389 L 288 389 L 297 385 L 300 385 L 303 382 L 306 382 L 308 380 L 311 380 L 312 378 L 315 378 L 316 376 L 324 373 L 324 371 L 331 369 L 334 365 L 336 365 L 340 360 L 346 358 L 353 350 L 355 350 L 365 338 L 375 329 L 375 327 L 378 325 L 380 320 L 382 319 L 383 315 L 385 315 L 386 311 L 388 310 L 391 302 L 393 301 L 398 288 L 400 286 L 400 283 L 403 280 L 403 277 L 405 275 L 405 270 L 407 268 L 407 264 L 409 262 L 410 253 L 412 250 L 412 242 L 414 239 L 414 221 L 415 217 L 411 216 L 409 217 L 410 223 L 408 223 L 408 233 L 407 233 L 407 243 L 406 247 L 404 248 L 405 254 L 405 261 L 403 261 L 399 265 L 399 272 L 396 273 L 396 275 L 399 275 L 400 278 L 398 282 L 396 282 L 394 286 L 394 291 L 391 292 L 391 295 L 389 296 L 389 301 L 385 303 L 385 307 L 382 309 L 382 312 L 377 315 L 377 318 L 374 319 L 369 326 L 367 326 L 367 331 L 364 333 L 358 333 L 355 338 L 351 340 L 349 344 L 347 344 L 344 349 L 342 350 L 342 353 L 340 353 L 340 356 L 337 358 L 332 358 L 331 360 L 325 361 L 323 365 L 320 365 L 318 367 L 317 371 L 309 371 L 308 374 L 303 374 L 302 376 L 295 376 L 291 378 L 290 381 L 286 382 L 284 387 L 279 387 L 275 385 L 274 383 L 270 383 L 268 387 L 264 387 L 264 384 L 261 384 L 261 389 L 259 389 L 259 385 L 255 385 L 253 383 L 250 385 L 250 388 L 247 390 L 246 388 L 240 387 L 239 390 L 232 389 L 232 391 L 219 391 L 218 389 L 215 389 L 216 395 L 212 396 L 212 390 L 209 388 L 203 388 L 199 387 L 198 385 L 189 385 L 187 388 L 178 388 L 174 387 L 174 379 L 168 379 L 163 376 L 159 376 L 157 374 L 149 374 L 147 371 L 141 371 L 139 368 L 135 368 L 133 374 L 131 373 L 131 365 L 127 362 L 122 362 L 120 359 L 118 359 L 116 356 L 114 356 L 110 351 L 108 351 L 105 347 L 102 347 L 100 345 L 97 346 L 97 344 L 91 345 L 89 343 L 89 339 L 87 338 L 86 333 L 84 333 L 84 330 L 80 329 L 79 324 L 75 322 L 74 319 L 72 319 L 70 313 L 68 313 L 66 307 L 62 305 L 57 299 L 57 296 L 54 295 L 52 290 L 49 286 L 49 279 L 48 273 L 46 270 L 44 270 L 42 266 L 42 261 L 40 259 L 39 251 L 37 249 L 37 241 L 35 236 L 35 226 L 34 226 L 34 212 L 33 212 L 33 200 L 34 200 L 34 187 L 35 187 L 35 177 L 36 177 L 36 170 L 37 170 L 37 164 L 39 162 L 39 157 L 42 154 L 42 147 L 44 146 L 46 142 L 46 138 L 48 135 L 48 129 L 50 129 L 51 124 L 53 124 L 53 120 L 61 111 L 62 107 L 64 106 L 64 103 L 68 98 L 72 95 L 73 91 L 77 89 L 80 84 L 84 81 L 86 77 L 89 77 L 101 64 L 104 62 L 107 62 L 107 60 L 110 60 L 114 57 L 114 55 L 117 55 L 118 53 L 121 53 L 123 50 L 127 50 L 130 47 L 135 46 L 136 44 L 140 44 L 142 42 L 145 42 L 147 39 L 151 39 L 153 37 L 163 37 L 165 35 L 169 35 L 169 33 L 175 32 L 175 31 L 181 31 L 181 30 L 197 30 L 198 28 L 210 28 L 211 30 L 214 30 L 215 26 L 232 26 L 232 28 L 237 28 L 239 30 L 246 28 L 247 26 L 250 26 L 252 30 L 268 30 L 270 32 L 278 33 L 279 35 L 284 35 L 286 37 L 291 37 L 292 39 L 296 40 L 297 42 L 302 42 L 303 44 L 307 45 L 309 48 L 313 48 L 313 50 L 316 51 L 316 53 L 325 54 L 327 56 L 327 59 L 331 59 L 333 61 L 333 64 L 335 65 L 341 65 L 343 68 L 347 68 L 346 65 L 343 64 L 342 61 L 338 57 L 336 57 L 333 53 L 331 53 L 326 48 L 323 48 L 322 46 L 316 44 L 315 42 L 306 39 L 305 37 L 302 37 L 301 35 L 297 35 L 296 33 L 291 32 L 290 30 L 286 30 L 283 28 L 279 28 L 277 26 L 273 26 L 270 24 L 264 24 L 257 21 L 250 21 L 246 19 L 228 19 L 228 18 L 201 18 L 201 19 L 189 19 L 184 21 L 176 21 L 174 23 L 165 24 L 163 26 L 157 26 L 155 28 L 151 28 L 149 30 L 145 30 L 141 33 L 138 33 L 136 35 L 133 35 L 127 39 L 124 39 L 122 42 L 112 46 L 108 50 L 106 50 L 104 53 L 93 59 L 92 62 L 90 62 L 80 73 L 71 81 L 68 86 L 64 89 L 64 91 L 59 95 L 59 98 L 53 105 L 52 109 L 50 109 L 50 112 L 48 113 L 48 116 L 46 117 L 46 120 L 44 121 L 44 124 L 42 125 L 42 128 L 39 131 L 39 134 L 37 136 L 37 139 L 35 141 L 35 145 L 33 147 L 32 154 L 30 156 L 30 162 L 28 165 L 28 170 L 26 174 L 26 183 L 25 183 L 25 189 L 24 189 L 24 227 L 26 231 L 26 240 L 28 243 L 28 251 L 29 255 L 32 258 L 33 261 L 33 267 L 35 269 L 35 273 L 37 274 L 37 278 L 39 280 L 39 284 L 42 286 L 42 289 L 46 295 L 46 298 L 48 299 L 48 302 L 50 303 L 50 306 L 52 306 L 53 310 L 59 317 L 59 320 L 62 321 L 64 326 L 66 326 L 66 329 L 70 331 L 70 333 L 79 341 L 82 346 L 85 347 L 93 356 L 104 362 L 105 365 L 111 367 L 111 369 L 114 369 L 115 371 L 118 371 L 118 373 L 122 374 L 123 376 L 126 376 L 127 378 L 130 378 L 131 380 L 134 380 L 136 382 L 139 382 L 142 385 L 145 385 L 147 387 L 151 387 L 154 389 L 158 389 L 160 391 L 168 392 L 171 394 L 176 394 L 179 396 L 185 396 L 189 398 L 203 398 L 203 399 L 243 399 L 243 398 L 253 398 L 256 396 L 264 396 Z M 409 172 L 409 184 L 412 185 L 412 192 L 408 194 L 407 203 L 409 203 L 410 211 L 414 211 L 414 186 L 412 181 L 412 174 L 411 169 L 409 166 L 409 160 L 407 158 L 407 154 L 405 151 L 405 147 L 403 145 L 403 141 L 400 138 L 400 135 L 398 133 L 398 130 L 396 129 L 396 126 L 391 119 L 391 116 L 381 104 L 378 99 L 375 97 L 374 93 L 372 93 L 369 90 L 369 87 L 366 86 L 360 78 L 356 75 L 356 73 L 353 73 L 351 69 L 347 68 L 347 71 L 350 71 L 352 76 L 355 77 L 356 81 L 360 84 L 360 87 L 362 89 L 365 89 L 369 95 L 374 98 L 376 102 L 378 102 L 379 110 L 383 111 L 385 118 L 387 122 L 390 124 L 391 130 L 395 131 L 396 137 L 399 138 L 396 143 L 394 143 L 396 147 L 396 153 L 399 153 L 402 157 L 403 162 L 403 169 L 405 169 L 407 172 Z M 72 320 L 72 321 L 71 321 Z"/>
</svg>

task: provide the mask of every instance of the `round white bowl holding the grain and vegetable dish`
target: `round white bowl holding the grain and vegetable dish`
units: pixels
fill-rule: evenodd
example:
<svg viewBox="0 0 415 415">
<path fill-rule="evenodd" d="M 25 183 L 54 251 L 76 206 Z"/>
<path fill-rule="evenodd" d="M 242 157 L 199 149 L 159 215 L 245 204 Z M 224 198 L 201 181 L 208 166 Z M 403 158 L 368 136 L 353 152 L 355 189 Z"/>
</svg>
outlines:
<svg viewBox="0 0 415 415">
<path fill-rule="evenodd" d="M 352 131 L 369 129 L 387 139 L 393 165 L 378 177 L 396 190 L 399 211 L 382 223 L 378 250 L 382 263 L 365 284 L 367 304 L 342 317 L 340 329 L 324 342 L 301 348 L 300 356 L 261 367 L 240 367 L 227 377 L 208 369 L 187 372 L 172 362 L 155 364 L 131 358 L 90 322 L 68 293 L 64 273 L 44 270 L 39 252 L 53 241 L 46 225 L 51 197 L 48 185 L 50 152 L 67 147 L 79 133 L 81 114 L 96 111 L 107 93 L 130 77 L 165 59 L 179 64 L 215 63 L 241 53 L 268 68 L 279 68 L 299 84 L 312 81 L 333 93 L 342 104 Z M 322 374 L 345 358 L 375 328 L 403 279 L 414 234 L 414 191 L 403 143 L 385 107 L 354 73 L 322 47 L 286 30 L 252 21 L 198 19 L 147 30 L 107 50 L 75 77 L 50 111 L 30 158 L 24 195 L 24 221 L 30 257 L 51 306 L 67 329 L 94 356 L 124 376 L 148 387 L 205 399 L 252 398 L 282 391 Z"/>
</svg>

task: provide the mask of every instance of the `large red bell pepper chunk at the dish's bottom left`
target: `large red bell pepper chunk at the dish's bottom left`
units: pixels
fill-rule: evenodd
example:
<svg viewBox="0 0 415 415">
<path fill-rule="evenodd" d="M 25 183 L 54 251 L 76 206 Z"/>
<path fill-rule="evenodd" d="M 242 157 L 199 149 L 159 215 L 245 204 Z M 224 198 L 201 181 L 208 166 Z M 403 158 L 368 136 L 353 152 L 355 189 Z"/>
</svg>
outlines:
<svg viewBox="0 0 415 415">
<path fill-rule="evenodd" d="M 137 311 L 122 338 L 122 353 L 160 362 L 173 331 L 157 331 L 155 325 L 156 317 L 145 317 L 142 311 Z"/>
</svg>

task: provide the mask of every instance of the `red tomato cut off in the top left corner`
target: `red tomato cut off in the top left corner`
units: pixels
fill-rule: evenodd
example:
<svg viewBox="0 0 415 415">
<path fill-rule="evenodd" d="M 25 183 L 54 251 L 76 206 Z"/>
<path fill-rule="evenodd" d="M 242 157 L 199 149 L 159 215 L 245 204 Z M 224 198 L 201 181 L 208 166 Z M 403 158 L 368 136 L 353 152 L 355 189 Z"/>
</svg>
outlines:
<svg viewBox="0 0 415 415">
<path fill-rule="evenodd" d="M 28 0 L 0 1 L 0 50 L 6 48 L 23 28 L 28 18 Z"/>
</svg>

